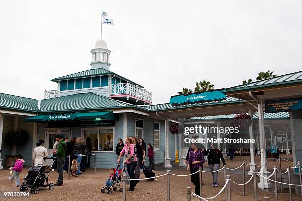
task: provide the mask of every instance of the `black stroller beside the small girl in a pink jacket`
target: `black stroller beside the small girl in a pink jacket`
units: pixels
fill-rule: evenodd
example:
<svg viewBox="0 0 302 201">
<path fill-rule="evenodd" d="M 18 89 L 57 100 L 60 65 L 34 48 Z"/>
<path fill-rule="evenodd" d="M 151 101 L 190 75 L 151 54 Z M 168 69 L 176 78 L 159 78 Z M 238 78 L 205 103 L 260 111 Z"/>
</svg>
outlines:
<svg viewBox="0 0 302 201">
<path fill-rule="evenodd" d="M 44 162 L 46 159 L 55 159 L 50 157 L 44 157 Z M 48 176 L 53 166 L 54 160 L 50 165 L 38 164 L 38 166 L 32 166 L 28 170 L 28 174 L 25 176 L 21 187 L 20 192 L 26 192 L 28 188 L 31 189 L 32 194 L 37 194 L 39 187 L 48 186 L 49 189 L 53 189 L 53 183 L 48 183 Z"/>
</svg>

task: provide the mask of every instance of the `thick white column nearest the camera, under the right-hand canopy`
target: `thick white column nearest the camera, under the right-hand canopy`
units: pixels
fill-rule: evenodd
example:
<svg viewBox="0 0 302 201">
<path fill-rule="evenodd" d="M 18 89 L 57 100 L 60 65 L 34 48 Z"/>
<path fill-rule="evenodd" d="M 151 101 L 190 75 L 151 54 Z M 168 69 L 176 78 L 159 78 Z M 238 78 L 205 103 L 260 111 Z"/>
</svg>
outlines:
<svg viewBox="0 0 302 201">
<path fill-rule="evenodd" d="M 265 134 L 264 134 L 264 118 L 263 118 L 263 107 L 262 100 L 258 102 L 258 121 L 259 121 L 259 136 L 260 136 L 260 156 L 261 156 L 261 170 L 260 174 L 264 177 L 267 177 L 267 174 L 270 172 L 267 171 L 266 167 L 266 147 L 265 147 Z M 258 183 L 258 188 L 269 189 L 272 187 L 272 184 L 267 179 L 260 179 Z"/>
</svg>

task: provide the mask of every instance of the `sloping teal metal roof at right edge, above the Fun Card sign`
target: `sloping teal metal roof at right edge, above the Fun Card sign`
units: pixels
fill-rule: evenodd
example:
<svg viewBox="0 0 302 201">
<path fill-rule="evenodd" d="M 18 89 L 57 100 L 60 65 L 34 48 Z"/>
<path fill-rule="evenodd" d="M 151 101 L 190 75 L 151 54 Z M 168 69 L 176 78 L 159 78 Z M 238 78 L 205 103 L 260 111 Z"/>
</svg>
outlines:
<svg viewBox="0 0 302 201">
<path fill-rule="evenodd" d="M 237 91 L 247 91 L 253 89 L 261 89 L 261 88 L 272 88 L 276 86 L 284 86 L 284 85 L 291 85 L 295 83 L 302 83 L 302 71 L 293 72 L 286 75 L 280 75 L 256 82 L 251 82 L 247 84 L 238 85 L 235 87 L 230 87 L 226 89 L 224 92 L 225 94 L 229 94 L 231 92 Z"/>
</svg>

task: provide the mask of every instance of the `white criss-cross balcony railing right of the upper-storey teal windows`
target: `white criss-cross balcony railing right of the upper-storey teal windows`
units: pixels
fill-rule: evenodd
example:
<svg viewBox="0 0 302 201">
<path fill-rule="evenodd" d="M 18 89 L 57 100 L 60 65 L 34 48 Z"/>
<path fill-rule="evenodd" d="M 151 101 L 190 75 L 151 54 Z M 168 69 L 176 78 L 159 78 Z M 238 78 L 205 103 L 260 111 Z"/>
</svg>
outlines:
<svg viewBox="0 0 302 201">
<path fill-rule="evenodd" d="M 136 102 L 140 100 L 144 103 L 152 104 L 152 93 L 146 91 L 146 89 L 129 82 L 111 84 L 111 97 L 121 97 L 122 95 L 124 95 L 127 100 L 131 97 L 136 99 Z"/>
</svg>

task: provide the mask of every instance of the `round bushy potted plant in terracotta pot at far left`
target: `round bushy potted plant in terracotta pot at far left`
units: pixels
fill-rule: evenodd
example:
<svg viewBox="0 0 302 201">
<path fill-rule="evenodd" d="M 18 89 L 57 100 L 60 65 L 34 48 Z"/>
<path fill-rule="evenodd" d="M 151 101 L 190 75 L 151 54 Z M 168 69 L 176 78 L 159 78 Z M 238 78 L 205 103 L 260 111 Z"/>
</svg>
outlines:
<svg viewBox="0 0 302 201">
<path fill-rule="evenodd" d="M 21 146 L 24 145 L 29 137 L 29 133 L 24 129 L 10 130 L 4 137 L 4 143 L 7 146 Z M 5 155 L 6 166 L 13 166 L 16 160 L 15 153 L 12 155 Z"/>
</svg>

